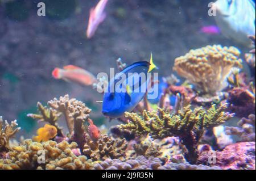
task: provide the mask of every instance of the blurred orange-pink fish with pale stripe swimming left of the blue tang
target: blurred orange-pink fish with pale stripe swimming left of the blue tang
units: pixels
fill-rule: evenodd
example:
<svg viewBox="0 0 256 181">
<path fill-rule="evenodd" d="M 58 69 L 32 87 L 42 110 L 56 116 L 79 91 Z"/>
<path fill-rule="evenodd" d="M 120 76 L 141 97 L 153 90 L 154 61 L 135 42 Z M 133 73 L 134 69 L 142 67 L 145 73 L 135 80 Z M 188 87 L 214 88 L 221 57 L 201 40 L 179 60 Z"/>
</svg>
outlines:
<svg viewBox="0 0 256 181">
<path fill-rule="evenodd" d="M 97 79 L 92 73 L 75 65 L 67 65 L 63 69 L 55 68 L 52 71 L 52 77 L 76 82 L 83 86 L 92 86 L 93 83 L 97 83 Z"/>
</svg>

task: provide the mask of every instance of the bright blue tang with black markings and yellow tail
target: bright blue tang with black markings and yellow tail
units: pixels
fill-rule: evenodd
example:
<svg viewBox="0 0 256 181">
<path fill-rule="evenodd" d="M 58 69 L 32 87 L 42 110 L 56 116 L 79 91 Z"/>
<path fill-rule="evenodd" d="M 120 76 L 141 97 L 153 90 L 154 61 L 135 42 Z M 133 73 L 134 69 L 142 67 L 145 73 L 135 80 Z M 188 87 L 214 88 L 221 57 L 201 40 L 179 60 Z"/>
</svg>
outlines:
<svg viewBox="0 0 256 181">
<path fill-rule="evenodd" d="M 126 111 L 133 111 L 146 94 L 147 85 L 151 81 L 147 73 L 154 68 L 156 66 L 151 54 L 150 62 L 135 62 L 110 79 L 103 96 L 102 113 L 110 118 L 119 118 Z M 141 74 L 146 77 L 142 78 Z"/>
</svg>

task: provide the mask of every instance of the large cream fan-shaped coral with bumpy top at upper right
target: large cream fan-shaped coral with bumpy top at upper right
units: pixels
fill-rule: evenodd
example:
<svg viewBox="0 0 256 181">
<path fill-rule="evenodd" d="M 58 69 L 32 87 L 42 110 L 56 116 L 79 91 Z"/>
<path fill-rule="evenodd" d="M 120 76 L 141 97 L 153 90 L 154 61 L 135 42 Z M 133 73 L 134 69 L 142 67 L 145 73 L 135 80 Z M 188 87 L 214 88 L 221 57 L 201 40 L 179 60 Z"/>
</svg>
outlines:
<svg viewBox="0 0 256 181">
<path fill-rule="evenodd" d="M 190 50 L 175 59 L 174 70 L 203 94 L 215 95 L 228 86 L 226 78 L 234 68 L 242 68 L 240 51 L 221 45 Z"/>
</svg>

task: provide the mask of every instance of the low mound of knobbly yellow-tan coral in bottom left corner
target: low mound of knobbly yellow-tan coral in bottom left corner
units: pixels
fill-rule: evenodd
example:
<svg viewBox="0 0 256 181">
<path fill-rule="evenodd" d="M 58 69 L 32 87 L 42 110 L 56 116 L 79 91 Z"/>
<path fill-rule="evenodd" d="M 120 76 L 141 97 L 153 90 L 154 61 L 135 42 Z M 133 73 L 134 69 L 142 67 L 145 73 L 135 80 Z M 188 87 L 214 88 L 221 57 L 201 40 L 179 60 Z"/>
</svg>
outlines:
<svg viewBox="0 0 256 181">
<path fill-rule="evenodd" d="M 76 156 L 72 149 L 77 144 L 67 141 L 57 144 L 47 141 L 40 144 L 25 140 L 24 145 L 14 146 L 8 158 L 0 159 L 0 169 L 90 169 L 92 161 L 85 156 Z"/>
</svg>

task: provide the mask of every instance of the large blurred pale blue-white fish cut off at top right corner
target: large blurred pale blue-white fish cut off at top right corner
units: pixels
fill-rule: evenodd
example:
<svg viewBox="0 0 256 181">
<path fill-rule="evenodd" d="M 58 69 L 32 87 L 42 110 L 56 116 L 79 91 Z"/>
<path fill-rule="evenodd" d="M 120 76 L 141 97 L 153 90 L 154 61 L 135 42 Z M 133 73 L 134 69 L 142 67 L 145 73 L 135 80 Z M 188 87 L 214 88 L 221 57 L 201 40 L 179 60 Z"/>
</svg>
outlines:
<svg viewBox="0 0 256 181">
<path fill-rule="evenodd" d="M 255 35 L 255 2 L 251 0 L 217 0 L 216 22 L 224 36 L 250 46 L 248 35 Z"/>
</svg>

